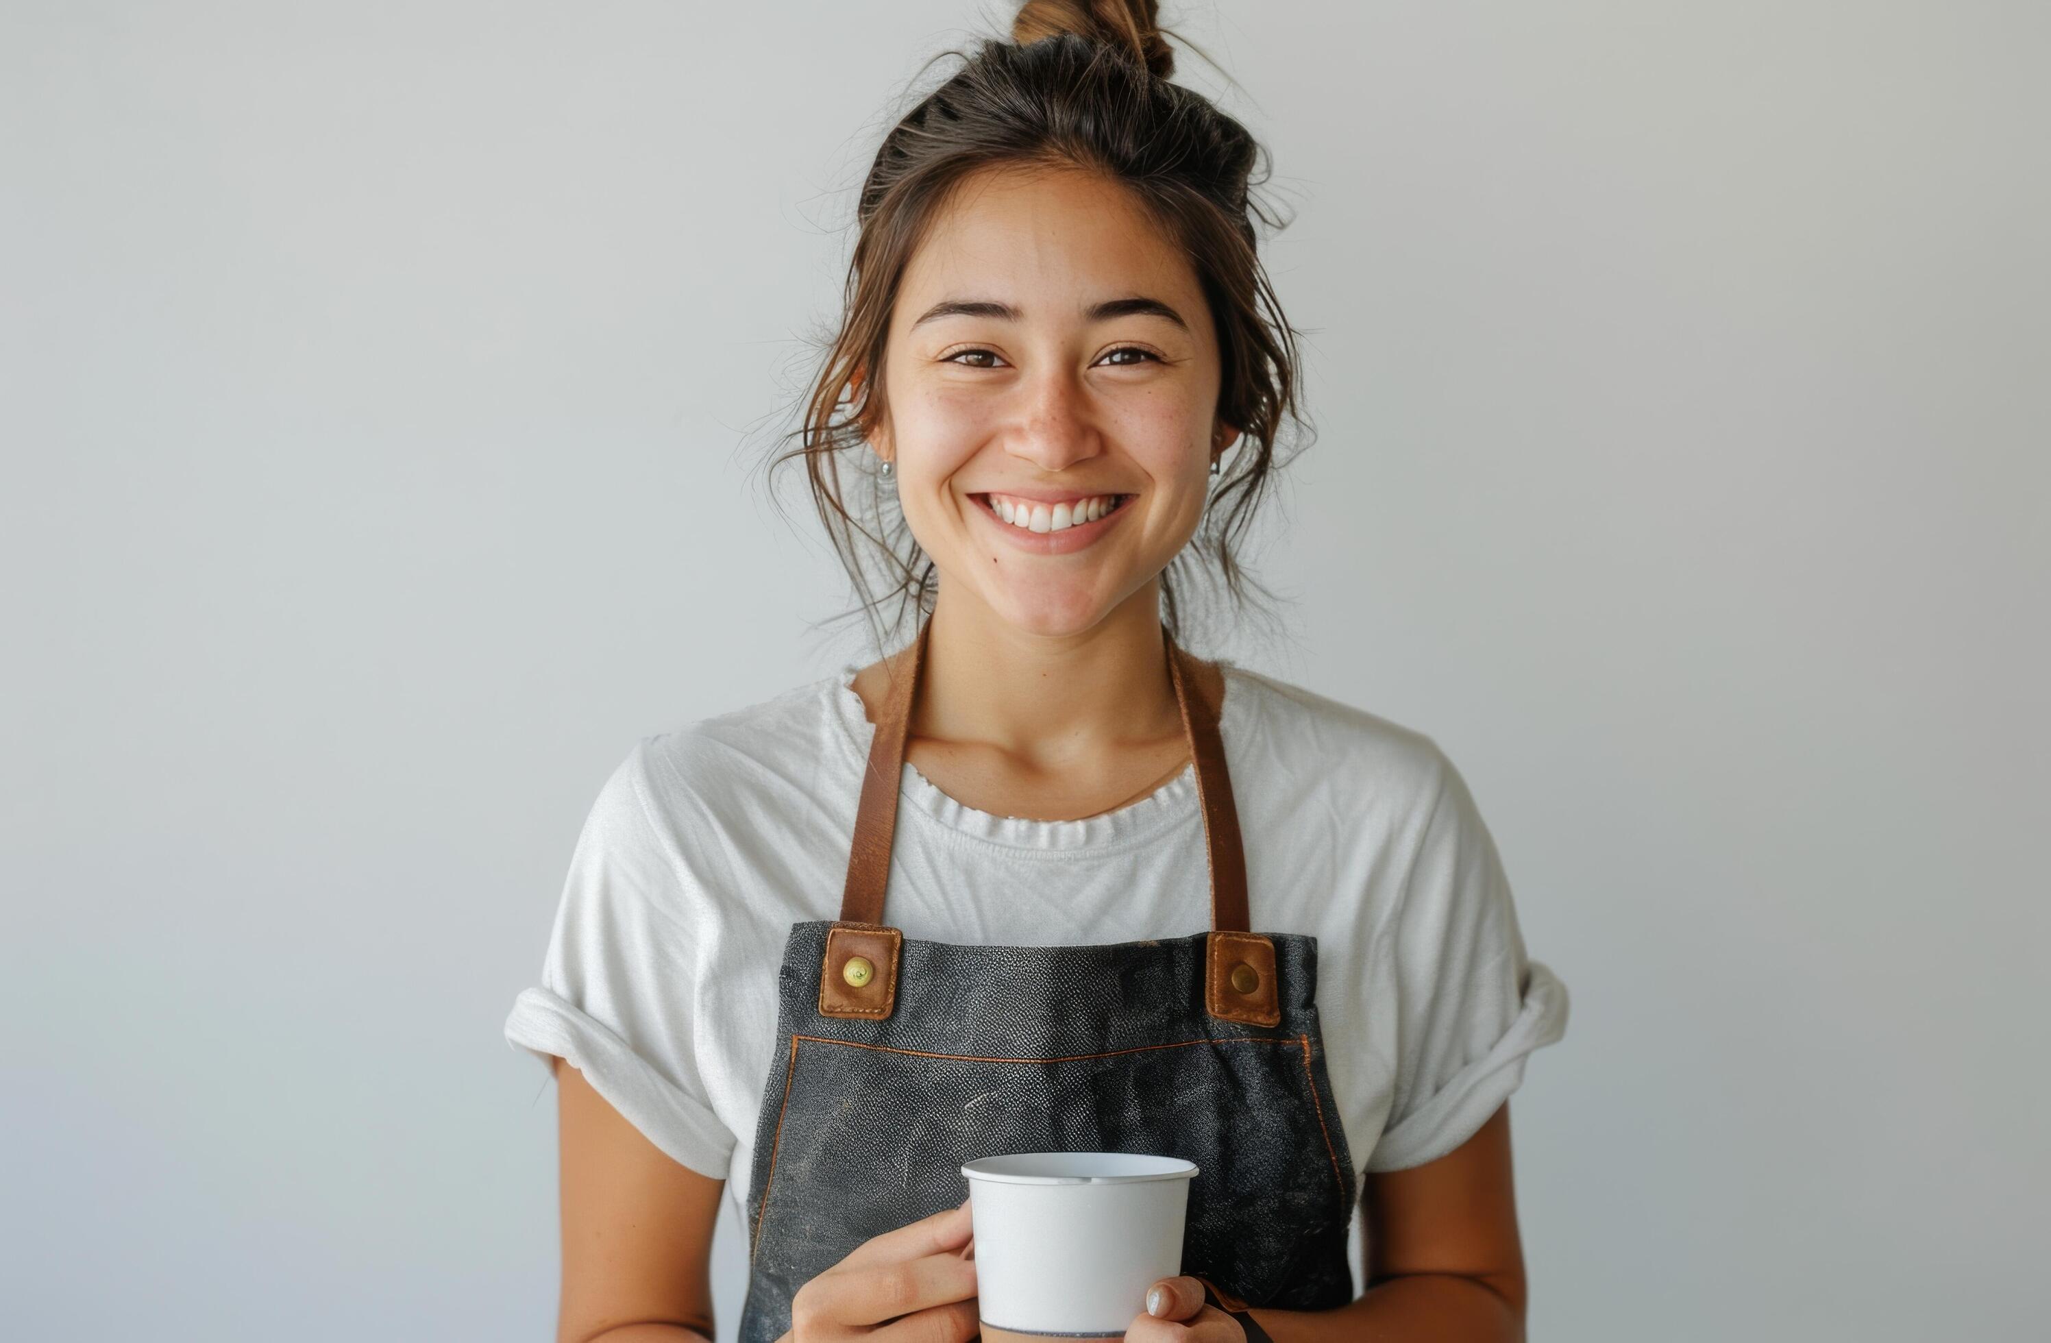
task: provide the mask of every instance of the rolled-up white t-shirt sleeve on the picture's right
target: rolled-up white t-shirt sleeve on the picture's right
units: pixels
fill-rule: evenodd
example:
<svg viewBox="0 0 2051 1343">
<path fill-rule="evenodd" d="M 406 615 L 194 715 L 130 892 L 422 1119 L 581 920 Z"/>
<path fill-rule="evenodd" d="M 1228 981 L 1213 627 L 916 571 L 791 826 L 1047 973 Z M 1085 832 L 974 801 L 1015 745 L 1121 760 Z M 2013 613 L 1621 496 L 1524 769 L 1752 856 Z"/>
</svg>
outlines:
<svg viewBox="0 0 2051 1343">
<path fill-rule="evenodd" d="M 1526 955 L 1495 841 L 1444 755 L 1386 935 L 1397 1072 L 1370 1173 L 1421 1167 L 1458 1148 L 1518 1089 L 1532 1050 L 1567 1033 L 1567 986 Z"/>
</svg>

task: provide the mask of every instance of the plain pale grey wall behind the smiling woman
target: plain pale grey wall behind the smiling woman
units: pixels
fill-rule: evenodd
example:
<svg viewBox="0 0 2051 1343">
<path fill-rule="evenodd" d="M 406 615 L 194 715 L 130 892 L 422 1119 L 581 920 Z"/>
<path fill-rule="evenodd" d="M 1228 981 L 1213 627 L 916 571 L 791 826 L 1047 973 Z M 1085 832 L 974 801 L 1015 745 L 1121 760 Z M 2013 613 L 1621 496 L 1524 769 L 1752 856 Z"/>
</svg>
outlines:
<svg viewBox="0 0 2051 1343">
<path fill-rule="evenodd" d="M 500 1023 L 636 736 L 868 658 L 761 447 L 1009 12 L 0 4 L 0 1331 L 552 1335 Z M 2045 14 L 1165 14 L 1319 426 L 1200 650 L 1491 822 L 1534 1339 L 2043 1327 Z"/>
</svg>

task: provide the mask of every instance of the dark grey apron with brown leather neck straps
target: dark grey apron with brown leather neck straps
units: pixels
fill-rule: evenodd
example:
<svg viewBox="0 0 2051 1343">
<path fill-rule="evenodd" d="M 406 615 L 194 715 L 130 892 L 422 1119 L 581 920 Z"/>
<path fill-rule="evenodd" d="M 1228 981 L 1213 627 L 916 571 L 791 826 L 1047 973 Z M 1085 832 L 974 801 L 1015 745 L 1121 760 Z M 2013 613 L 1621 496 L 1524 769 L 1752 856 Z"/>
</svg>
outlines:
<svg viewBox="0 0 2051 1343">
<path fill-rule="evenodd" d="M 1196 763 L 1210 931 L 919 941 L 882 917 L 929 627 L 927 615 L 878 714 L 841 917 L 794 923 L 783 945 L 740 1343 L 775 1343 L 798 1288 L 870 1236 L 960 1206 L 962 1163 L 1001 1152 L 1192 1161 L 1183 1273 L 1247 1306 L 1348 1304 L 1358 1191 L 1317 1025 L 1317 937 L 1247 931 L 1233 785 L 1196 660 L 1163 625 Z"/>
</svg>

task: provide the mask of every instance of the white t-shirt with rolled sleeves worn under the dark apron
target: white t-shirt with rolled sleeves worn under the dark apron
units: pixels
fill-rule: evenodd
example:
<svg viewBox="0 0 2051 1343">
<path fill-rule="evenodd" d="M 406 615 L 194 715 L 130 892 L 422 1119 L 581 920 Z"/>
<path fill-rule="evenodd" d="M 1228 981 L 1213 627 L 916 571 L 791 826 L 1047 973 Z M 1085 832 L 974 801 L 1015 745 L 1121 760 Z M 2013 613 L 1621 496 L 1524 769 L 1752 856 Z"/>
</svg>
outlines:
<svg viewBox="0 0 2051 1343">
<path fill-rule="evenodd" d="M 1317 937 L 1354 1165 L 1444 1156 L 1565 1033 L 1567 988 L 1526 960 L 1495 843 L 1430 736 L 1220 666 L 1249 925 Z M 855 670 L 636 742 L 576 841 L 541 982 L 505 1025 L 660 1150 L 726 1179 L 740 1214 L 783 939 L 841 914 L 874 734 Z M 1075 945 L 1210 927 L 1194 767 L 1081 820 L 968 808 L 911 763 L 900 789 L 882 923 L 904 937 Z"/>
</svg>

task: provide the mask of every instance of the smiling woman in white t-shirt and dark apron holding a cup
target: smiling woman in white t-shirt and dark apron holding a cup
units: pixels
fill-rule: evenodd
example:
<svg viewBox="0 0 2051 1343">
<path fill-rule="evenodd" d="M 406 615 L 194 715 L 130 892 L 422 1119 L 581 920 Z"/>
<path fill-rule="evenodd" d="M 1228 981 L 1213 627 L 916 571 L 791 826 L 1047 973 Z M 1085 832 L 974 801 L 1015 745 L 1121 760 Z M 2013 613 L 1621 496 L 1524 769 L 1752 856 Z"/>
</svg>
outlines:
<svg viewBox="0 0 2051 1343">
<path fill-rule="evenodd" d="M 876 154 L 802 457 L 902 638 L 601 789 L 507 1021 L 560 1083 L 564 1339 L 710 1337 L 726 1189 L 745 1343 L 995 1331 L 960 1165 L 1011 1150 L 1200 1167 L 1128 1339 L 1522 1337 L 1507 1095 L 1567 994 L 1475 802 L 1181 648 L 1296 361 L 1257 148 L 1171 64 L 1149 0 L 1026 4 Z"/>
</svg>

